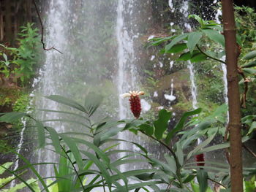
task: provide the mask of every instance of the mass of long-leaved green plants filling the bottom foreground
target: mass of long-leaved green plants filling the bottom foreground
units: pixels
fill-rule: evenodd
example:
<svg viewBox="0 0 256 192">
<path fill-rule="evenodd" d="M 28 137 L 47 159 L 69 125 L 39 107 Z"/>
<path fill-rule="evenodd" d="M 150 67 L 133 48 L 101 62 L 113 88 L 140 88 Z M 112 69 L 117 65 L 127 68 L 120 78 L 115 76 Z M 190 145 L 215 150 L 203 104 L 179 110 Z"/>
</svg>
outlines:
<svg viewBox="0 0 256 192">
<path fill-rule="evenodd" d="M 48 96 L 48 99 L 72 107 L 77 110 L 77 112 L 54 110 L 45 110 L 45 112 L 67 113 L 67 115 L 69 115 L 69 121 L 72 121 L 70 115 L 79 118 L 80 120 L 72 123 L 82 125 L 84 132 L 57 133 L 54 128 L 43 126 L 39 120 L 32 118 L 37 127 L 39 147 L 45 145 L 46 137 L 50 139 L 51 142 L 49 142 L 48 145 L 53 145 L 55 153 L 59 155 L 59 164 L 53 164 L 53 162 L 39 163 L 40 166 L 53 164 L 55 170 L 55 176 L 53 177 L 55 177 L 56 181 L 51 182 L 48 180 L 48 182 L 45 183 L 37 170 L 34 169 L 34 165 L 30 164 L 25 157 L 18 154 L 26 165 L 13 172 L 8 170 L 16 177 L 18 176 L 18 179 L 29 187 L 31 191 L 37 191 L 36 188 L 31 186 L 31 183 L 34 181 L 32 180 L 32 182 L 30 182 L 30 180 L 28 180 L 26 182 L 17 174 L 27 168 L 34 172 L 42 187 L 48 192 L 66 190 L 91 191 L 94 188 L 108 188 L 110 191 L 138 191 L 141 188 L 151 188 L 154 191 L 160 192 L 161 189 L 157 186 L 157 184 L 160 183 L 165 185 L 172 183 L 172 185 L 176 187 L 172 188 L 172 190 L 176 191 L 179 191 L 178 189 L 187 191 L 185 185 L 191 183 L 194 191 L 208 192 L 207 181 L 209 178 L 215 177 L 215 174 L 225 175 L 225 178 L 227 178 L 225 180 L 227 181 L 219 177 L 217 182 L 223 182 L 222 184 L 226 186 L 229 185 L 229 169 L 227 164 L 204 161 L 205 166 L 197 166 L 197 162 L 191 161 L 191 157 L 197 154 L 229 147 L 228 142 L 208 147 L 208 144 L 214 139 L 217 133 L 216 131 L 215 134 L 212 133 L 211 125 L 221 120 L 220 117 L 226 112 L 226 110 L 223 110 L 223 107 L 208 118 L 204 118 L 203 120 L 199 120 L 199 118 L 197 118 L 197 120 L 192 119 L 189 123 L 187 123 L 187 119 L 192 115 L 198 114 L 201 110 L 186 112 L 181 117 L 181 120 L 178 121 L 175 128 L 169 130 L 167 122 L 171 118 L 171 113 L 166 110 L 161 110 L 158 119 L 153 122 L 143 119 L 116 121 L 110 118 L 103 118 L 102 120 L 93 122 L 91 117 L 99 107 L 102 100 L 101 96 L 90 93 L 86 97 L 85 104 L 79 104 L 72 99 L 67 99 L 62 96 Z M 82 115 L 78 113 L 79 111 L 82 112 Z M 0 121 L 11 122 L 23 116 L 30 117 L 26 113 L 11 112 L 2 115 Z M 67 120 L 61 118 L 58 119 L 58 121 L 67 122 Z M 166 147 L 168 151 L 168 153 L 165 154 L 166 161 L 159 161 L 152 157 L 148 151 L 138 143 L 116 139 L 116 135 L 120 131 L 125 130 L 132 131 L 136 134 L 140 131 L 151 139 L 159 142 L 163 147 Z M 197 145 L 194 150 L 190 150 L 190 152 L 187 153 L 187 149 L 194 146 L 197 139 L 202 137 L 202 135 L 207 135 L 206 133 L 208 131 L 211 132 L 208 139 L 200 145 Z M 175 145 L 170 146 L 170 141 L 174 139 L 177 134 L 178 140 L 176 139 Z M 248 139 L 249 137 L 244 137 L 243 142 Z M 134 152 L 131 150 L 116 149 L 118 142 L 129 142 L 139 147 L 140 151 Z M 127 155 L 121 155 L 124 152 L 126 152 Z M 110 158 L 112 155 L 118 156 L 118 158 Z M 138 162 L 150 164 L 152 168 L 129 170 L 125 172 L 120 172 L 117 168 L 117 166 Z M 244 169 L 244 174 L 249 174 L 250 170 L 253 169 Z M 192 182 L 195 177 L 197 177 L 199 185 Z M 136 180 L 137 183 L 130 183 L 132 180 Z M 20 186 L 23 187 L 23 185 Z"/>
</svg>

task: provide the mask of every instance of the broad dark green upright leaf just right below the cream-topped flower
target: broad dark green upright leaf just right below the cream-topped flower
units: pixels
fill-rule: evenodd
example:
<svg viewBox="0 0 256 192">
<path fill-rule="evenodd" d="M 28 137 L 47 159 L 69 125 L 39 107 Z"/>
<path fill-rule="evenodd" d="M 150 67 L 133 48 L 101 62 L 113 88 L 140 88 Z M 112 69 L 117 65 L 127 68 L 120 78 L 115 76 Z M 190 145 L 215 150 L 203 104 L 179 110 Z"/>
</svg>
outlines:
<svg viewBox="0 0 256 192">
<path fill-rule="evenodd" d="M 154 136 L 157 139 L 162 139 L 162 134 L 164 134 L 165 130 L 168 126 L 168 120 L 170 120 L 170 117 L 172 115 L 172 112 L 168 112 L 167 110 L 160 110 L 159 111 L 159 118 L 158 120 L 154 121 Z"/>
</svg>

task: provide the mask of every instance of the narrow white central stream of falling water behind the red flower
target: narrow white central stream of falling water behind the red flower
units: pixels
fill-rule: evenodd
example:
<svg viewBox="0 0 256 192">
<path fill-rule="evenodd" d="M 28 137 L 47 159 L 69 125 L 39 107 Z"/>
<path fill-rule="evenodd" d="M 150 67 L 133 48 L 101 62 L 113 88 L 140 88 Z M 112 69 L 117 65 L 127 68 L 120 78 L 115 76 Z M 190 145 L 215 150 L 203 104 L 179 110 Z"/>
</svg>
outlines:
<svg viewBox="0 0 256 192">
<path fill-rule="evenodd" d="M 133 14 L 133 0 L 124 1 L 118 0 L 117 7 L 117 18 L 116 18 L 116 39 L 118 42 L 118 74 L 117 74 L 117 87 L 118 87 L 118 118 L 124 119 L 129 117 L 129 106 L 128 101 L 126 99 L 121 98 L 122 93 L 126 93 L 129 91 L 137 91 L 138 85 L 136 85 L 136 75 L 135 75 L 135 53 L 134 53 L 134 45 L 133 39 L 136 36 L 133 36 L 132 23 L 125 23 L 124 18 L 127 16 L 128 18 L 132 17 Z M 128 9 L 125 9 L 128 7 Z M 132 22 L 131 20 L 129 20 Z M 130 30 L 128 31 L 128 28 Z M 119 139 L 127 140 L 129 137 L 129 131 L 122 132 L 118 134 Z M 124 142 L 120 143 L 121 149 L 127 149 L 127 145 Z M 120 154 L 124 156 L 124 153 Z M 125 165 L 121 165 L 121 172 L 124 172 L 126 169 Z"/>
</svg>

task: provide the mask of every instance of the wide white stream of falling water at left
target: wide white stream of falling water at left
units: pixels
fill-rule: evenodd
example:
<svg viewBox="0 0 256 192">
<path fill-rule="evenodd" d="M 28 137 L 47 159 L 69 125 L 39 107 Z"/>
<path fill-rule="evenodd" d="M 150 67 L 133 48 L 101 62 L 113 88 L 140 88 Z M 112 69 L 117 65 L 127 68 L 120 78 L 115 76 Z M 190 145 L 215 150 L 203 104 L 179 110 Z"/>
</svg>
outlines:
<svg viewBox="0 0 256 192">
<path fill-rule="evenodd" d="M 47 22 L 45 26 L 47 26 L 45 41 L 46 45 L 56 47 L 57 49 L 61 49 L 64 52 L 65 42 L 67 41 L 67 37 L 64 34 L 64 23 L 67 22 L 64 16 L 67 15 L 67 7 L 69 4 L 69 0 L 51 0 L 50 1 L 50 10 L 48 12 Z M 42 81 L 39 83 L 38 92 L 41 96 L 49 96 L 61 94 L 59 88 L 61 88 L 61 82 L 58 80 L 61 77 L 64 66 L 62 64 L 62 55 L 57 53 L 56 51 L 48 51 L 45 52 L 45 65 L 42 69 Z M 36 106 L 39 109 L 49 109 L 50 110 L 59 110 L 58 105 L 54 101 L 50 101 L 49 99 L 40 98 L 37 99 Z M 54 113 L 50 116 L 45 112 L 39 114 L 39 119 L 58 119 L 58 114 Z M 48 123 L 48 126 L 53 126 L 57 132 L 64 131 L 64 126 L 54 122 Z M 50 150 L 39 150 L 38 161 L 39 162 L 54 162 L 57 159 L 54 159 L 56 156 Z M 41 170 L 41 166 L 39 166 L 39 172 L 44 176 L 53 175 L 53 167 L 46 166 L 43 170 Z"/>
</svg>

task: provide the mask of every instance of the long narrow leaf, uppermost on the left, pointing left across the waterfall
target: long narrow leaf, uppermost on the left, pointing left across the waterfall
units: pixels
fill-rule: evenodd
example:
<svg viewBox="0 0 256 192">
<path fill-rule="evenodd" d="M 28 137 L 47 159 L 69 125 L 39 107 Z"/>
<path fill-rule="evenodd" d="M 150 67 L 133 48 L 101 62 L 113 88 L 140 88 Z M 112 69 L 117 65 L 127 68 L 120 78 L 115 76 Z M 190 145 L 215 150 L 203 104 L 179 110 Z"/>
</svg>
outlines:
<svg viewBox="0 0 256 192">
<path fill-rule="evenodd" d="M 73 101 L 72 99 L 68 99 L 64 96 L 57 96 L 57 95 L 52 95 L 52 96 L 46 96 L 47 99 L 56 101 L 60 104 L 65 104 L 69 107 L 75 108 L 77 110 L 80 110 L 81 112 L 87 112 L 87 110 L 80 104 L 78 104 L 76 101 Z"/>
</svg>

